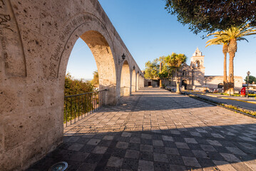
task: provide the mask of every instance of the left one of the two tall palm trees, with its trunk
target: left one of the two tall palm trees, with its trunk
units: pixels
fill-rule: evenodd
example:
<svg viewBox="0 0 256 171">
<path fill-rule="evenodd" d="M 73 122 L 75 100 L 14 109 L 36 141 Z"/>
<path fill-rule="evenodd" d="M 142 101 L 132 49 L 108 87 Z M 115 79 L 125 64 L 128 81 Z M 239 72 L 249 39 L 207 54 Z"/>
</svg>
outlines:
<svg viewBox="0 0 256 171">
<path fill-rule="evenodd" d="M 224 86 L 224 92 L 227 90 L 227 52 L 228 52 L 228 41 L 222 40 L 221 34 L 223 31 L 217 31 L 215 33 L 210 33 L 208 36 L 215 35 L 215 38 L 212 38 L 208 40 L 206 43 L 207 46 L 211 45 L 222 45 L 222 53 L 224 54 L 224 69 L 223 69 L 223 86 Z"/>
</svg>

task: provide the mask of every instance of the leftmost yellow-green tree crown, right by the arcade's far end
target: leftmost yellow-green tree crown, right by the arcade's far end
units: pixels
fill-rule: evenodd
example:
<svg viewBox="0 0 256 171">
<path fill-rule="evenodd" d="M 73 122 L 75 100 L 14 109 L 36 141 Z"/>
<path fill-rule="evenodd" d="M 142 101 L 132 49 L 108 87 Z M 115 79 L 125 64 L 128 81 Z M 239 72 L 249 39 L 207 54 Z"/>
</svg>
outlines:
<svg viewBox="0 0 256 171">
<path fill-rule="evenodd" d="M 159 64 L 158 59 L 155 59 L 153 62 L 145 63 L 145 78 L 153 80 L 158 77 L 159 73 Z"/>
</svg>

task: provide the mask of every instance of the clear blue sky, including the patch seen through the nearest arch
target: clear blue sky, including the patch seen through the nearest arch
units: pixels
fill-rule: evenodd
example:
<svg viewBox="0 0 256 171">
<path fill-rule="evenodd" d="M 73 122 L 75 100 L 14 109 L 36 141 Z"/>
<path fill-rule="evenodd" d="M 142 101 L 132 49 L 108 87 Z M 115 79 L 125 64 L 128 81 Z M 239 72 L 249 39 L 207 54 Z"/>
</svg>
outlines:
<svg viewBox="0 0 256 171">
<path fill-rule="evenodd" d="M 164 9 L 163 0 L 99 0 L 113 26 L 123 39 L 140 69 L 145 68 L 145 62 L 153 61 L 168 54 L 185 53 L 190 63 L 190 57 L 198 47 L 205 56 L 205 75 L 222 76 L 223 53 L 222 46 L 208 46 L 202 39 L 203 35 L 190 32 L 188 26 L 180 24 L 175 16 Z M 256 35 L 246 37 L 247 41 L 237 43 L 237 53 L 234 59 L 235 76 L 245 78 L 247 71 L 256 76 Z M 228 68 L 227 68 L 228 69 Z M 93 78 L 96 71 L 93 55 L 81 39 L 73 47 L 68 61 L 67 71 L 74 78 Z"/>
</svg>

